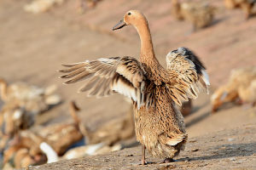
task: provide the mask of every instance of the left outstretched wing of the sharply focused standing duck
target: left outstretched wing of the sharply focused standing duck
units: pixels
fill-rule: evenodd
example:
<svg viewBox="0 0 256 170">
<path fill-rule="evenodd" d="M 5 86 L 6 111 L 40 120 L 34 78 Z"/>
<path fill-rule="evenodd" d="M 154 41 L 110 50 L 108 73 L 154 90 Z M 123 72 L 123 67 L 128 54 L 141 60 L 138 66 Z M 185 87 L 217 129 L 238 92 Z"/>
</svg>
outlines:
<svg viewBox="0 0 256 170">
<path fill-rule="evenodd" d="M 137 102 L 138 108 L 144 104 L 144 86 L 146 72 L 137 59 L 132 57 L 102 58 L 71 65 L 61 72 L 68 78 L 66 84 L 84 81 L 79 92 L 88 91 L 88 95 L 108 96 L 113 92 L 124 94 Z"/>
</svg>

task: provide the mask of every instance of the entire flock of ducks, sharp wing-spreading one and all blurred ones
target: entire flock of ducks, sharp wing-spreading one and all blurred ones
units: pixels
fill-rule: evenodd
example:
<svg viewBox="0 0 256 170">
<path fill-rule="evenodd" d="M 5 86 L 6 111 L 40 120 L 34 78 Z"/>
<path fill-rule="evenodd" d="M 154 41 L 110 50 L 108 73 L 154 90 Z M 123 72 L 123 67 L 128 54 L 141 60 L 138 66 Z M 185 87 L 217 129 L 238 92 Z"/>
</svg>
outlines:
<svg viewBox="0 0 256 170">
<path fill-rule="evenodd" d="M 81 0 L 79 6 L 92 8 L 98 2 Z M 61 3 L 64 0 L 34 0 L 24 9 L 41 13 Z M 253 16 L 255 3 L 253 0 L 224 0 L 227 8 L 241 8 L 246 19 Z M 172 0 L 171 7 L 172 17 L 191 22 L 193 31 L 211 26 L 218 11 L 205 2 Z M 113 26 L 113 31 L 125 26 L 134 26 L 140 37 L 139 59 L 124 54 L 125 57 L 86 60 L 63 65 L 65 69 L 60 72 L 66 84 L 84 82 L 79 91 L 90 96 L 123 94 L 129 100 L 127 105 L 131 105 L 126 116 L 91 130 L 78 115 L 86 111 L 80 111 L 79 106 L 70 101 L 67 107 L 72 122 L 38 125 L 38 116 L 61 104 L 56 87 L 39 88 L 26 82 L 9 84 L 0 78 L 1 168 L 21 168 L 121 150 L 125 148 L 123 141 L 134 137 L 142 144 L 143 165 L 147 163 L 145 150 L 163 158 L 163 162 L 174 161 L 188 139 L 183 116 L 192 112 L 192 100 L 198 94 L 209 94 L 207 68 L 194 52 L 183 47 L 166 55 L 166 68 L 160 65 L 154 54 L 148 21 L 142 12 L 128 11 Z M 229 81 L 212 94 L 212 113 L 230 102 L 255 107 L 256 66 L 230 72 Z"/>
</svg>

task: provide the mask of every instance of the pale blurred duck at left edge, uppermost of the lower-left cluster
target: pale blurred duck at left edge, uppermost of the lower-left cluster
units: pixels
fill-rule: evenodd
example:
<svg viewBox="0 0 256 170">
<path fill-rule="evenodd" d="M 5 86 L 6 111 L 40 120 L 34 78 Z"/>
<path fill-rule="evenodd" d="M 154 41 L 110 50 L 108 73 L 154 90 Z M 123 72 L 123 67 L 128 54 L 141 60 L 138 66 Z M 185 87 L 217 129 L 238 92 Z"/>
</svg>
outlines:
<svg viewBox="0 0 256 170">
<path fill-rule="evenodd" d="M 14 82 L 9 84 L 0 78 L 0 98 L 4 103 L 19 104 L 26 111 L 39 114 L 47 111 L 49 107 L 61 103 L 61 97 L 54 94 L 55 85 L 47 88 L 39 88 L 26 82 Z"/>
</svg>

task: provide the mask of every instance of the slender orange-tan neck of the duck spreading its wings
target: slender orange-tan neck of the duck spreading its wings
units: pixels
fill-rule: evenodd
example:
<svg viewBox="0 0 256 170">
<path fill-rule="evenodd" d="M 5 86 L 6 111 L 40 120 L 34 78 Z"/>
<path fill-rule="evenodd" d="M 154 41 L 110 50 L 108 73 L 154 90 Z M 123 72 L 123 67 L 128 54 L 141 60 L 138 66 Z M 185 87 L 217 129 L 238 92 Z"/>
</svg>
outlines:
<svg viewBox="0 0 256 170">
<path fill-rule="evenodd" d="M 143 20 L 139 26 L 136 26 L 136 28 L 141 39 L 141 62 L 146 65 L 158 63 L 158 60 L 154 55 L 153 43 L 147 20 Z"/>
</svg>

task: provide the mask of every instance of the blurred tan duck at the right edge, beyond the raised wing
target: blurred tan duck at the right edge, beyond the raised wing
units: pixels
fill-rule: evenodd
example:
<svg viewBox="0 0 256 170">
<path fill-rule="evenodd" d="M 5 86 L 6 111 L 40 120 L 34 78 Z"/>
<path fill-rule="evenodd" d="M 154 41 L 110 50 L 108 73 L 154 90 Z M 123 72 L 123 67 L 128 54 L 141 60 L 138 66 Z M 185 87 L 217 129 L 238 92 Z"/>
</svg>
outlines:
<svg viewBox="0 0 256 170">
<path fill-rule="evenodd" d="M 227 84 L 219 87 L 211 98 L 212 112 L 228 102 L 256 104 L 256 66 L 231 71 Z"/>
</svg>

